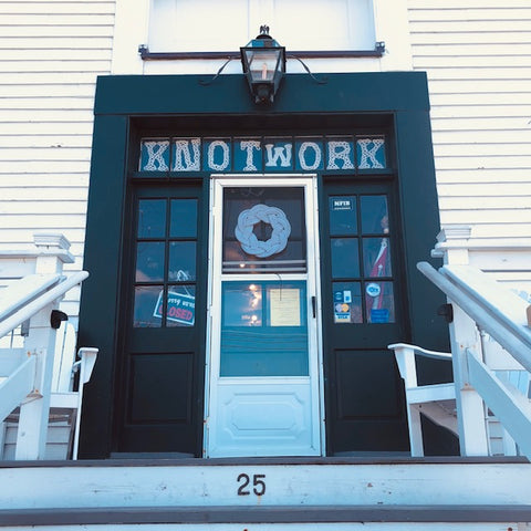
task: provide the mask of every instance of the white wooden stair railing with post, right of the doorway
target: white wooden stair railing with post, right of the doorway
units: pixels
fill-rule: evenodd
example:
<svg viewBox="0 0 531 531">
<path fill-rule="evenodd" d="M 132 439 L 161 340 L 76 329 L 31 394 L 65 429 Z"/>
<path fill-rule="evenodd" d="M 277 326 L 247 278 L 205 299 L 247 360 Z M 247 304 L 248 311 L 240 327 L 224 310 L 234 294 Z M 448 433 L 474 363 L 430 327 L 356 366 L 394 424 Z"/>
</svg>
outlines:
<svg viewBox="0 0 531 531">
<path fill-rule="evenodd" d="M 426 262 L 417 267 L 446 293 L 454 309 L 450 341 L 461 452 L 488 454 L 485 403 L 520 451 L 531 457 L 529 397 L 497 375 L 502 369 L 531 372 L 528 303 L 471 266 L 446 264 L 438 271 Z M 486 334 L 502 347 L 494 358 Z"/>
</svg>

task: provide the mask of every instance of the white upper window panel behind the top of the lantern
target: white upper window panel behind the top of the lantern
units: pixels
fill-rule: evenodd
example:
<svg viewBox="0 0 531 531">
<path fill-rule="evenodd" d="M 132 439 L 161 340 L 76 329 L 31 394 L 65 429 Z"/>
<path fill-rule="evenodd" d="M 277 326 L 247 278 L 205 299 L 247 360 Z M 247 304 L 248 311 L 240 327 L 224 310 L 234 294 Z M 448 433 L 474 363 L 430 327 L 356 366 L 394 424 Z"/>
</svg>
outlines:
<svg viewBox="0 0 531 531">
<path fill-rule="evenodd" d="M 267 24 L 288 51 L 374 50 L 373 0 L 152 0 L 150 52 L 238 51 Z"/>
</svg>

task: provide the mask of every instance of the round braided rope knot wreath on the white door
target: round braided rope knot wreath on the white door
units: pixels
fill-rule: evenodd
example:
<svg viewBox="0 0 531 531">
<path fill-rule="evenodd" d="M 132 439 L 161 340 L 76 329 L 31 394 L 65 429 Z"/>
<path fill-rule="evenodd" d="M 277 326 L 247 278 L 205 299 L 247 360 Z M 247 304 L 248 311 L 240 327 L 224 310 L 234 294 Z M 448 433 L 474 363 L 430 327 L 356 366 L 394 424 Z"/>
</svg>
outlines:
<svg viewBox="0 0 531 531">
<path fill-rule="evenodd" d="M 253 227 L 260 221 L 270 225 L 273 229 L 269 240 L 259 240 L 252 231 Z M 235 229 L 236 238 L 241 243 L 241 248 L 248 254 L 254 254 L 258 258 L 267 258 L 283 251 L 290 233 L 291 225 L 285 214 L 280 208 L 268 207 L 267 205 L 254 205 L 252 208 L 241 211 Z"/>
</svg>

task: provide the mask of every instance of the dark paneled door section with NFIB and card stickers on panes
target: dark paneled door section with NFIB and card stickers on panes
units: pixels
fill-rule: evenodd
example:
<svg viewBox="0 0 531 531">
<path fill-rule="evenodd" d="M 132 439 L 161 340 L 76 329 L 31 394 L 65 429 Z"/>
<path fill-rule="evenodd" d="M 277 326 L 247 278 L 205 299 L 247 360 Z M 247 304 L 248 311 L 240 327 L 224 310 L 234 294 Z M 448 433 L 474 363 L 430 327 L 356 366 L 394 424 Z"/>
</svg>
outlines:
<svg viewBox="0 0 531 531">
<path fill-rule="evenodd" d="M 327 454 L 407 451 L 400 231 L 392 184 L 326 181 L 321 196 Z"/>
</svg>

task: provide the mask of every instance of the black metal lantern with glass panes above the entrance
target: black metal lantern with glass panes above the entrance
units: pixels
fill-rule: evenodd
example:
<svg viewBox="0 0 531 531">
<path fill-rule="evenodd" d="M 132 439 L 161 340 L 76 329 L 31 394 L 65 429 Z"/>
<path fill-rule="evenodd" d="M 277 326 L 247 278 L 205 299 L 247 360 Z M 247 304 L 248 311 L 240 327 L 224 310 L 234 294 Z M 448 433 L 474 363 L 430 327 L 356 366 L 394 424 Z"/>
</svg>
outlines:
<svg viewBox="0 0 531 531">
<path fill-rule="evenodd" d="M 261 25 L 260 34 L 247 46 L 240 48 L 241 64 L 254 103 L 273 103 L 285 74 L 285 48 Z"/>
</svg>

